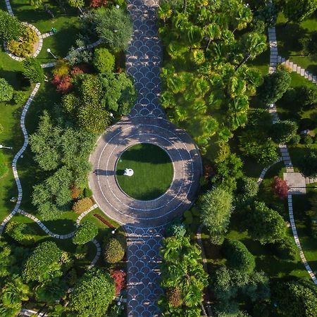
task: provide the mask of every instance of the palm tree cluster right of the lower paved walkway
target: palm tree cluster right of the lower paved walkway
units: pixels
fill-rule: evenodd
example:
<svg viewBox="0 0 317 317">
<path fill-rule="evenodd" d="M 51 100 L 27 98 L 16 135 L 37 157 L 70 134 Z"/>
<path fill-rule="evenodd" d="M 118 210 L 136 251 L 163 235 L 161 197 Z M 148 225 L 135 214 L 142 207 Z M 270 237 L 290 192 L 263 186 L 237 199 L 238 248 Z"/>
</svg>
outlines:
<svg viewBox="0 0 317 317">
<path fill-rule="evenodd" d="M 163 312 L 166 316 L 199 316 L 208 284 L 201 250 L 190 244 L 189 237 L 168 237 L 163 240 L 161 256 L 161 285 L 167 291 L 159 301 Z"/>
</svg>

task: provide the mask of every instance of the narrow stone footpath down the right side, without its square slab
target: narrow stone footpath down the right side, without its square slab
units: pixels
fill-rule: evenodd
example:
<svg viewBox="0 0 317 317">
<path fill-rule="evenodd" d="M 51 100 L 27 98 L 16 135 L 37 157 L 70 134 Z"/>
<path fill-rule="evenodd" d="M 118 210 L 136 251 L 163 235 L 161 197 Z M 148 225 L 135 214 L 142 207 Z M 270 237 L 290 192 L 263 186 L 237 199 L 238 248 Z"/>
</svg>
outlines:
<svg viewBox="0 0 317 317">
<path fill-rule="evenodd" d="M 276 67 L 278 65 L 278 42 L 276 39 L 275 27 L 268 28 L 268 39 L 269 39 L 269 44 L 270 44 L 269 73 L 274 73 L 276 70 Z M 270 113 L 272 115 L 273 123 L 276 123 L 278 121 L 278 112 L 275 108 L 275 105 L 272 105 L 272 107 L 270 109 Z M 288 153 L 288 150 L 287 150 L 287 146 L 285 144 L 280 144 L 279 147 L 280 147 L 280 151 L 282 154 L 282 160 L 285 163 L 287 173 L 294 173 L 294 168 L 292 165 L 292 161 L 290 159 L 290 154 Z M 299 255 L 302 259 L 302 262 L 304 263 L 306 271 L 309 273 L 313 282 L 317 285 L 316 276 L 313 273 L 313 271 L 311 270 L 309 263 L 307 263 L 307 261 L 306 261 L 306 258 L 304 256 L 304 252 L 302 250 L 302 246 L 299 242 L 299 237 L 297 235 L 297 229 L 296 229 L 296 224 L 295 224 L 295 220 L 294 220 L 293 206 L 292 206 L 292 192 L 289 192 L 287 199 L 288 199 L 288 211 L 289 211 L 289 216 L 290 216 L 290 224 L 292 226 L 292 232 L 294 235 L 295 243 L 299 249 Z"/>
</svg>

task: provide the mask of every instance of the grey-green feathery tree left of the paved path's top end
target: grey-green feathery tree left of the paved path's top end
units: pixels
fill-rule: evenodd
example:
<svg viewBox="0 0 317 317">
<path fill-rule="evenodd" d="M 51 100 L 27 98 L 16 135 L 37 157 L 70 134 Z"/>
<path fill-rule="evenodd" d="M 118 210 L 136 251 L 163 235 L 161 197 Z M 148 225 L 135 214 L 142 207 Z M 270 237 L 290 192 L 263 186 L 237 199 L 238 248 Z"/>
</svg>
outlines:
<svg viewBox="0 0 317 317">
<path fill-rule="evenodd" d="M 132 21 L 122 8 L 99 8 L 94 13 L 97 35 L 111 49 L 126 49 L 132 35 Z"/>
</svg>

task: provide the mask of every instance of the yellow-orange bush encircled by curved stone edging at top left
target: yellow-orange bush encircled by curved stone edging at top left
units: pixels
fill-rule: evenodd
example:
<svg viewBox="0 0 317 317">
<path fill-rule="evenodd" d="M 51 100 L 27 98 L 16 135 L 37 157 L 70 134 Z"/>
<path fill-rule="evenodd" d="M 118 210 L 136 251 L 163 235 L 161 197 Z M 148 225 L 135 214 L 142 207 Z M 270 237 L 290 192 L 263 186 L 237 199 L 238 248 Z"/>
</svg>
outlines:
<svg viewBox="0 0 317 317">
<path fill-rule="evenodd" d="M 22 27 L 20 39 L 11 39 L 7 43 L 8 50 L 15 56 L 32 56 L 35 51 L 35 43 L 39 40 L 35 30 L 30 27 Z"/>
</svg>

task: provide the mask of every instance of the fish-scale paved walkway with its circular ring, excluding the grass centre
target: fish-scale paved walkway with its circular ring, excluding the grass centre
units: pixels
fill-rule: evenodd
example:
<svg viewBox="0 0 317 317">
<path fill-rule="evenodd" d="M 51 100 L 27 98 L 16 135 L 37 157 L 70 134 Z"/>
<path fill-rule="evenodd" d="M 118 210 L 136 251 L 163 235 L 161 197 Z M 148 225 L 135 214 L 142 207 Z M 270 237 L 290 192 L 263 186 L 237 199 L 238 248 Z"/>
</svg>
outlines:
<svg viewBox="0 0 317 317">
<path fill-rule="evenodd" d="M 159 248 L 164 225 L 191 206 L 199 186 L 201 157 L 186 132 L 166 120 L 159 104 L 161 43 L 156 27 L 157 0 L 129 0 L 133 35 L 127 72 L 139 94 L 127 118 L 102 135 L 90 156 L 89 186 L 107 216 L 124 225 L 128 235 L 128 316 L 159 316 Z M 147 142 L 167 151 L 174 178 L 168 191 L 152 201 L 137 201 L 116 182 L 116 162 L 128 147 Z"/>
</svg>

